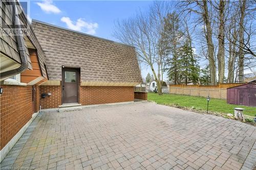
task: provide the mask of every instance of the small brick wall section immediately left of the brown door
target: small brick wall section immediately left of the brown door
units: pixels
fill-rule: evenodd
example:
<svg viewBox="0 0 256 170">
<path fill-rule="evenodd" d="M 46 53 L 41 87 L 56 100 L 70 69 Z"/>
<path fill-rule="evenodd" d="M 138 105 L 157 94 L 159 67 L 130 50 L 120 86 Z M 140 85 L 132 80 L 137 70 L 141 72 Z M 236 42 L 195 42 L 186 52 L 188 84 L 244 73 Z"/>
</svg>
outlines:
<svg viewBox="0 0 256 170">
<path fill-rule="evenodd" d="M 44 99 L 40 96 L 41 109 L 58 108 L 61 105 L 61 86 L 40 86 L 40 95 L 49 92 L 52 95 Z"/>
</svg>

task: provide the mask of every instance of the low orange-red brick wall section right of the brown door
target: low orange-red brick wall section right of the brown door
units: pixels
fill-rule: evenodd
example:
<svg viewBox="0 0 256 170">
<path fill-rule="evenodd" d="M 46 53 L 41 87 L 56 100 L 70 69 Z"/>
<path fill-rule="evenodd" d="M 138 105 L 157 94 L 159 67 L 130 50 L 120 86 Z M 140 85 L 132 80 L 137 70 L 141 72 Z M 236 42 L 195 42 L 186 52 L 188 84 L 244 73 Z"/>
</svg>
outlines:
<svg viewBox="0 0 256 170">
<path fill-rule="evenodd" d="M 134 87 L 80 86 L 79 103 L 96 105 L 134 101 Z"/>
</svg>

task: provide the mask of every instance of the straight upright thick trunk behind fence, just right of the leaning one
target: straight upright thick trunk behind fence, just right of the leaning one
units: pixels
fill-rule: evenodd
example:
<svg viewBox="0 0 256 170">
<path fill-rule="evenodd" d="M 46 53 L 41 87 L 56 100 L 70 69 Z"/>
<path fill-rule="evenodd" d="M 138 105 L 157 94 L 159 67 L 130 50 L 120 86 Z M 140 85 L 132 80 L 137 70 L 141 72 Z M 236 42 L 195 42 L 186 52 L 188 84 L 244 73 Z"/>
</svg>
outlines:
<svg viewBox="0 0 256 170">
<path fill-rule="evenodd" d="M 224 10 L 225 10 L 225 2 L 224 0 L 220 0 L 219 4 L 219 50 L 218 50 L 218 76 L 219 76 L 219 83 L 223 83 L 224 81 L 224 73 L 225 73 L 225 48 L 224 48 Z"/>
</svg>

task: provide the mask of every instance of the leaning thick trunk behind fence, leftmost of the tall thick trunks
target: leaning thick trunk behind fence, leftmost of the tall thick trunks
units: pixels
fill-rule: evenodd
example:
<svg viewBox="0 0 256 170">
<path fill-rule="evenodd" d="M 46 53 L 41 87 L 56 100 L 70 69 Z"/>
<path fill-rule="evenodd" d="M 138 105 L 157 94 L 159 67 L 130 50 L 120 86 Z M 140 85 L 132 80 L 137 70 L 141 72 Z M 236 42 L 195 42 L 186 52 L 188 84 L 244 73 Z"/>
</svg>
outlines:
<svg viewBox="0 0 256 170">
<path fill-rule="evenodd" d="M 206 26 L 206 41 L 208 47 L 209 67 L 210 67 L 210 82 L 211 85 L 216 85 L 216 65 L 214 57 L 214 43 L 212 42 L 212 29 L 209 21 L 207 1 L 203 1 L 204 22 Z"/>
</svg>

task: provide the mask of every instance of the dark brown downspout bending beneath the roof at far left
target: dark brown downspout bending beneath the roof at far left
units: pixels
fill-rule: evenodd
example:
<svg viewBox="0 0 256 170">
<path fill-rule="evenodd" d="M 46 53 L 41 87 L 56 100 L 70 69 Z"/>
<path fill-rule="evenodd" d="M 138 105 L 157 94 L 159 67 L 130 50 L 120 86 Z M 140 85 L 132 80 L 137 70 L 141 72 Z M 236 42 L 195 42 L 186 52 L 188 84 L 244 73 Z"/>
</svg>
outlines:
<svg viewBox="0 0 256 170">
<path fill-rule="evenodd" d="M 14 33 L 15 33 L 14 37 L 17 41 L 17 50 L 18 50 L 21 65 L 18 68 L 1 73 L 0 75 L 1 79 L 17 75 L 28 68 L 28 58 L 26 56 L 27 54 L 24 47 L 25 46 L 24 40 L 22 40 L 23 37 L 20 35 L 20 31 L 22 32 L 22 30 L 20 29 L 20 22 L 17 14 L 17 7 L 16 7 L 15 0 L 12 1 L 12 8 L 13 8 L 12 21 L 14 23 Z"/>
</svg>

